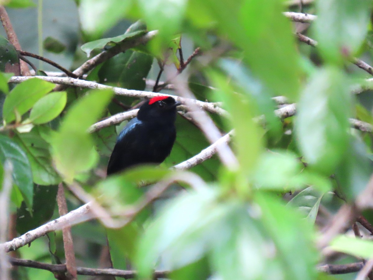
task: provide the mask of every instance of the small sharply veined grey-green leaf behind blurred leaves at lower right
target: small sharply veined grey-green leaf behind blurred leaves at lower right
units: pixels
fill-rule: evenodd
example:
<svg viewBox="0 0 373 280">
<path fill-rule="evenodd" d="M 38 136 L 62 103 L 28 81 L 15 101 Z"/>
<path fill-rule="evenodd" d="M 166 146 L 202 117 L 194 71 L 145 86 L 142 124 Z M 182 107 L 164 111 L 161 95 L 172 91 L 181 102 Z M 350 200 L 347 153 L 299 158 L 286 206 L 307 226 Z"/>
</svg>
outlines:
<svg viewBox="0 0 373 280">
<path fill-rule="evenodd" d="M 320 193 L 313 187 L 307 187 L 294 196 L 288 202 L 288 205 L 299 209 L 304 217 L 308 218 L 312 223 L 314 223 L 323 195 L 323 193 Z"/>
</svg>

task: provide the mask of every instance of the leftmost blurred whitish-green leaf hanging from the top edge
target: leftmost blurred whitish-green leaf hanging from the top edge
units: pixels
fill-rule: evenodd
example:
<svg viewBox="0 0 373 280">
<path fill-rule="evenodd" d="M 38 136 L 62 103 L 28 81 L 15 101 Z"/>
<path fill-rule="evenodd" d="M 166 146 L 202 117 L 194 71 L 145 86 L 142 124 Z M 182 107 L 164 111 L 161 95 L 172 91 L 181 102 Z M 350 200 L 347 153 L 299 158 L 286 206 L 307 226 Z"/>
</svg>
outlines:
<svg viewBox="0 0 373 280">
<path fill-rule="evenodd" d="M 101 35 L 122 19 L 131 5 L 123 0 L 80 0 L 79 16 L 84 32 L 92 38 Z"/>
</svg>

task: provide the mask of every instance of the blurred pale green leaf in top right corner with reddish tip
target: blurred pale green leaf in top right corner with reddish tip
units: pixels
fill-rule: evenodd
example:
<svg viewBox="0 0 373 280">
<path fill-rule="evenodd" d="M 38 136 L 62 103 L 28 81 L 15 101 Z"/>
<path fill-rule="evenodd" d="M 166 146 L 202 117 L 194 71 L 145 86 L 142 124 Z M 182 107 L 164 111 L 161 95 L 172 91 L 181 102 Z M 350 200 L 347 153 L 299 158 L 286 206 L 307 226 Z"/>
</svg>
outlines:
<svg viewBox="0 0 373 280">
<path fill-rule="evenodd" d="M 323 0 L 316 7 L 313 27 L 320 55 L 333 62 L 355 55 L 367 34 L 372 1 Z"/>
</svg>

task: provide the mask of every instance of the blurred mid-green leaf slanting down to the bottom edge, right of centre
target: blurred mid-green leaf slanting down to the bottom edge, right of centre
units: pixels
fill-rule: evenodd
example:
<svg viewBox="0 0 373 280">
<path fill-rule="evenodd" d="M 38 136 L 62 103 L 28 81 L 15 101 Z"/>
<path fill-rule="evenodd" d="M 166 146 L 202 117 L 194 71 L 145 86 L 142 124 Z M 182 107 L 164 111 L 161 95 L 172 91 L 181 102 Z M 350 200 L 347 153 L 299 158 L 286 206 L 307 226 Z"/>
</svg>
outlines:
<svg viewBox="0 0 373 280">
<path fill-rule="evenodd" d="M 287 208 L 277 197 L 257 193 L 254 201 L 260 207 L 266 232 L 275 243 L 283 279 L 316 279 L 317 253 L 311 223 L 302 219 L 298 212 Z"/>
</svg>

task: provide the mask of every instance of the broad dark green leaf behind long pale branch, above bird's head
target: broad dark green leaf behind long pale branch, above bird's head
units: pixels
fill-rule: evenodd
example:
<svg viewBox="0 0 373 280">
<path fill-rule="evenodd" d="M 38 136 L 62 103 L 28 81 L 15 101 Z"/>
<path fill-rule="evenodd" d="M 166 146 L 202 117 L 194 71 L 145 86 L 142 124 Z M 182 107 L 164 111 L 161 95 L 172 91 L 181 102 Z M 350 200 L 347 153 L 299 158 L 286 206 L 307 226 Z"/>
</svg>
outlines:
<svg viewBox="0 0 373 280">
<path fill-rule="evenodd" d="M 152 63 L 153 57 L 145 53 L 120 53 L 103 63 L 98 71 L 99 81 L 122 88 L 144 90 L 144 78 L 148 76 Z"/>
</svg>

